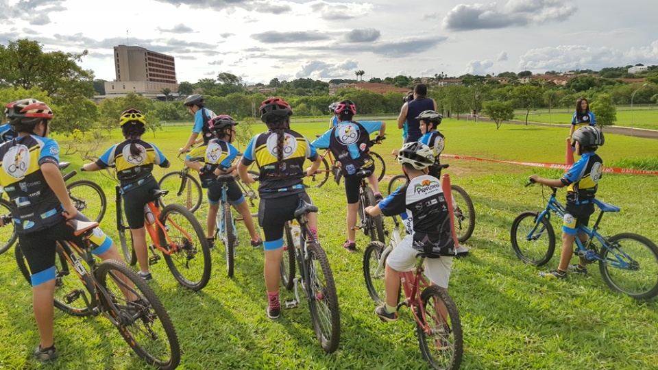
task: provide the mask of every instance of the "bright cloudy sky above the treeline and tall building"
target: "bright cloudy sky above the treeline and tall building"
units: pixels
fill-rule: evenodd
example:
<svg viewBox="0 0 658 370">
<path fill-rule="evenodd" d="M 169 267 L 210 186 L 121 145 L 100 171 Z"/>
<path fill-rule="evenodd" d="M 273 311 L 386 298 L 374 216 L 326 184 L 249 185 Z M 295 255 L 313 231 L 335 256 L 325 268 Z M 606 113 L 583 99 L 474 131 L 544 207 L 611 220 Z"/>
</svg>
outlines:
<svg viewBox="0 0 658 370">
<path fill-rule="evenodd" d="M 0 44 L 80 53 L 115 79 L 112 47 L 175 58 L 178 82 L 247 84 L 600 70 L 658 64 L 656 0 L 0 0 Z"/>
</svg>

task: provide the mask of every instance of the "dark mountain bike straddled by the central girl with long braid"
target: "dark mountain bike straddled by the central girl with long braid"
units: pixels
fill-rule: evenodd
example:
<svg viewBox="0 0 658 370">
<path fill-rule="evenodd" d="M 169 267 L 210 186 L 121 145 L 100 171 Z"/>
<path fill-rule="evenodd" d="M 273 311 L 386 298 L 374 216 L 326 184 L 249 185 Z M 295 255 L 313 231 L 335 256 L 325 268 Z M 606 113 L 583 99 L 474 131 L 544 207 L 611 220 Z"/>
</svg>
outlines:
<svg viewBox="0 0 658 370">
<path fill-rule="evenodd" d="M 317 212 L 317 206 L 300 201 L 295 210 L 295 219 L 300 224 L 297 245 L 293 240 L 290 222 L 285 224 L 287 245 L 281 261 L 281 282 L 289 291 L 295 291 L 295 298 L 285 301 L 283 308 L 296 308 L 300 305 L 299 284 L 306 295 L 310 320 L 320 346 L 327 353 L 336 351 L 341 337 L 341 316 L 334 275 L 329 260 L 317 238 L 308 230 L 306 214 Z M 295 259 L 299 277 L 295 276 Z"/>
</svg>

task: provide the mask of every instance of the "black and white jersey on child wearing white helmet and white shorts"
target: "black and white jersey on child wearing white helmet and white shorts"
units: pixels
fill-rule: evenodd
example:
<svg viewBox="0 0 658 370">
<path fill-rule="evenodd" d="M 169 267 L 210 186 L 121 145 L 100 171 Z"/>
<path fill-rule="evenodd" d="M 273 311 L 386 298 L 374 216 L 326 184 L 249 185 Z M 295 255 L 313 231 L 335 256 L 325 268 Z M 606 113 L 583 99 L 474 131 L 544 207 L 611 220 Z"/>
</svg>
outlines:
<svg viewBox="0 0 658 370">
<path fill-rule="evenodd" d="M 425 253 L 454 256 L 448 202 L 436 177 L 414 177 L 379 202 L 382 214 L 402 214 L 406 233 L 413 235 L 412 247 Z"/>
</svg>

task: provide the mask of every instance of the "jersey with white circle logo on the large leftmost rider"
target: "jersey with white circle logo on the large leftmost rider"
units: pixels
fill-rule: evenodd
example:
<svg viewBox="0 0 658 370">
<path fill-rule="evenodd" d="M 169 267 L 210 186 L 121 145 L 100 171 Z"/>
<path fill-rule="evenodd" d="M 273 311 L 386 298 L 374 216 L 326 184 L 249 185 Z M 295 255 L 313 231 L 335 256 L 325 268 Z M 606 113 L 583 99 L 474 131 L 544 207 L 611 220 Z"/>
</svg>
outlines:
<svg viewBox="0 0 658 370">
<path fill-rule="evenodd" d="M 46 183 L 41 165 L 60 160 L 60 147 L 51 138 L 19 136 L 0 145 L 0 185 L 7 193 L 15 230 L 27 234 L 64 221 L 64 208 Z"/>
</svg>

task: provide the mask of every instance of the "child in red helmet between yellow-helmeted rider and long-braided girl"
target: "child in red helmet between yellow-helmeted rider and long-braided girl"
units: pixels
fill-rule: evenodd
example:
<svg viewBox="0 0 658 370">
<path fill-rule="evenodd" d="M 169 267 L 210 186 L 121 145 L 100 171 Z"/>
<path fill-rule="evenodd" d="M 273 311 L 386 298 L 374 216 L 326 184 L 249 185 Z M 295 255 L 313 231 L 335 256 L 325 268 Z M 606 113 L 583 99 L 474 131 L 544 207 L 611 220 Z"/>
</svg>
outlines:
<svg viewBox="0 0 658 370">
<path fill-rule="evenodd" d="M 238 123 L 232 119 L 231 116 L 221 114 L 210 119 L 208 127 L 213 135 L 217 136 L 208 142 L 208 145 L 203 145 L 194 149 L 197 152 L 199 149 L 203 151 L 204 162 L 192 162 L 190 159 L 193 153 L 185 158 L 185 163 L 191 169 L 199 171 L 199 178 L 201 179 L 201 186 L 208 189 L 208 219 L 206 225 L 208 227 L 208 243 L 213 245 L 215 242 L 215 220 L 217 219 L 217 212 L 219 212 L 219 199 L 221 198 L 222 184 L 217 182 L 217 176 L 224 173 L 232 173 L 236 169 L 236 165 L 232 165 L 233 160 L 238 155 L 236 149 L 231 143 L 235 140 L 235 125 Z M 254 219 L 249 212 L 249 206 L 245 202 L 245 197 L 240 190 L 240 186 L 235 182 L 228 183 L 228 200 L 233 205 L 236 211 L 240 212 L 249 236 L 251 236 L 251 245 L 258 248 L 263 244 L 260 239 L 256 228 L 254 227 Z"/>
</svg>

